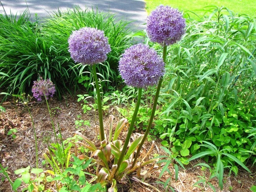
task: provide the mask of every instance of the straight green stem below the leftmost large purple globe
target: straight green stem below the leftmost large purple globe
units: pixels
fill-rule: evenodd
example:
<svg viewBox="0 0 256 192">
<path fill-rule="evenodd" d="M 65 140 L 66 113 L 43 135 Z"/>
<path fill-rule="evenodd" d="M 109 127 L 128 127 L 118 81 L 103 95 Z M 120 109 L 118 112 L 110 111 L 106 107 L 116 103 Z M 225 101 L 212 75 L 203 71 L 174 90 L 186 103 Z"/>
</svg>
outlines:
<svg viewBox="0 0 256 192">
<path fill-rule="evenodd" d="M 100 141 L 103 141 L 103 140 L 105 140 L 105 134 L 104 134 L 104 127 L 103 127 L 103 117 L 102 117 L 99 82 L 97 79 L 96 66 L 93 65 L 92 68 L 93 68 L 93 75 L 94 75 L 96 91 L 97 91 L 97 102 L 98 102 L 98 111 L 99 111 L 99 138 L 100 138 Z"/>
</svg>

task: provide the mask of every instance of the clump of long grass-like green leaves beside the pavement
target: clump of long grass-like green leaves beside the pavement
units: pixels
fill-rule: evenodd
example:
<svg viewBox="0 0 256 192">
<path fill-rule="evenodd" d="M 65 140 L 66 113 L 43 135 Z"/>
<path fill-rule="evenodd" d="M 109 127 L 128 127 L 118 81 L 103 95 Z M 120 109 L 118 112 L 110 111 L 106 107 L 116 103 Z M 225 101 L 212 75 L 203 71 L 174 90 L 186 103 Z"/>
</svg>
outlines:
<svg viewBox="0 0 256 192">
<path fill-rule="evenodd" d="M 69 35 L 85 26 L 101 29 L 109 38 L 112 51 L 103 65 L 97 65 L 100 78 L 105 79 L 101 86 L 106 89 L 109 81 L 116 83 L 118 58 L 132 39 L 126 37 L 131 32 L 129 22 L 79 7 L 53 12 L 42 23 L 29 22 L 27 12 L 19 19 L 0 15 L 0 23 L 0 86 L 8 93 L 28 92 L 38 76 L 52 80 L 59 98 L 66 91 L 72 94 L 79 83 L 92 87 L 93 78 L 83 74 L 90 76 L 91 68 L 75 65 L 68 52 Z"/>
</svg>

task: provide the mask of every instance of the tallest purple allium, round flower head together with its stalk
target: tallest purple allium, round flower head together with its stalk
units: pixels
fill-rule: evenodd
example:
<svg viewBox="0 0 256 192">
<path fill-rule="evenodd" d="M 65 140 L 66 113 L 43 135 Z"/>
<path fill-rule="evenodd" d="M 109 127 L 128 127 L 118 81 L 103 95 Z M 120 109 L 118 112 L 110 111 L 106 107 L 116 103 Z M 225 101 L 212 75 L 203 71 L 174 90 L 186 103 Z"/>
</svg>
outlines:
<svg viewBox="0 0 256 192">
<path fill-rule="evenodd" d="M 149 36 L 152 42 L 157 42 L 163 45 L 164 63 L 166 63 L 167 45 L 172 45 L 179 41 L 185 34 L 185 27 L 186 20 L 183 18 L 182 14 L 178 11 L 178 9 L 174 9 L 169 6 L 160 5 L 154 11 L 152 11 L 151 14 L 147 17 L 147 35 Z M 137 149 L 132 167 L 134 167 L 135 164 L 137 163 L 140 150 L 144 142 L 146 141 L 147 135 L 151 129 L 162 83 L 163 78 L 160 78 L 150 115 L 150 120 L 145 131 L 145 134 Z"/>
</svg>

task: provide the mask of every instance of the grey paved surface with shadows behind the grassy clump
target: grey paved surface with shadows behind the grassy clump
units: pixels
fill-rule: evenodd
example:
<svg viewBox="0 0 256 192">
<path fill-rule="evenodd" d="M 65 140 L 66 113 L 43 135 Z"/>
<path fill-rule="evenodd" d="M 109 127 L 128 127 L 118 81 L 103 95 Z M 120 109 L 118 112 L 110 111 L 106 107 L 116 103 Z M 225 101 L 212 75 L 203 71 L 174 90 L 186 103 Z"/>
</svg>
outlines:
<svg viewBox="0 0 256 192">
<path fill-rule="evenodd" d="M 16 14 L 23 12 L 26 8 L 25 0 L 0 0 L 5 8 L 7 14 Z M 122 17 L 125 20 L 133 22 L 133 26 L 138 29 L 145 29 L 147 13 L 145 10 L 145 2 L 143 0 L 27 0 L 29 12 L 33 17 L 35 13 L 38 16 L 45 17 L 49 15 L 52 10 L 60 8 L 66 10 L 79 5 L 81 8 L 88 7 L 89 9 L 96 8 L 103 12 L 111 12 L 116 14 L 116 17 Z M 4 14 L 3 7 L 0 4 L 0 14 Z"/>
</svg>

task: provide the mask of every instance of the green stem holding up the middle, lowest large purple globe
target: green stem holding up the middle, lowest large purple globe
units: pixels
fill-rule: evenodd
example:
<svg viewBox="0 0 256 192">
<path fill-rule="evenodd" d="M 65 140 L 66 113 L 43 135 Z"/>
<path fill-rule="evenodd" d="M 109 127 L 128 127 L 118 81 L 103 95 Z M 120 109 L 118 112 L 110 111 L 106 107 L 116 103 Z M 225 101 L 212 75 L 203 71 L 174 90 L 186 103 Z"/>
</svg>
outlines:
<svg viewBox="0 0 256 192">
<path fill-rule="evenodd" d="M 123 144 L 123 150 L 122 150 L 122 152 L 120 154 L 120 157 L 118 159 L 118 162 L 117 162 L 116 173 L 118 172 L 118 170 L 119 170 L 119 168 L 120 168 L 120 166 L 123 162 L 123 158 L 124 158 L 124 155 L 126 153 L 126 149 L 128 147 L 128 144 L 129 144 L 132 132 L 133 132 L 133 126 L 134 126 L 134 123 L 135 123 L 135 120 L 136 120 L 136 117 L 137 117 L 137 113 L 138 113 L 138 110 L 139 110 L 139 107 L 140 107 L 141 93 L 142 93 L 142 88 L 139 88 L 137 103 L 136 103 L 136 106 L 135 106 L 135 109 L 134 109 L 133 117 L 132 117 L 132 120 L 131 120 L 130 127 L 128 129 L 128 133 L 127 133 L 125 142 Z"/>
</svg>

